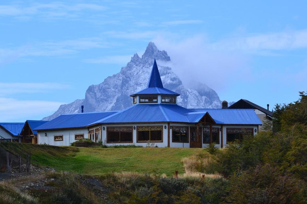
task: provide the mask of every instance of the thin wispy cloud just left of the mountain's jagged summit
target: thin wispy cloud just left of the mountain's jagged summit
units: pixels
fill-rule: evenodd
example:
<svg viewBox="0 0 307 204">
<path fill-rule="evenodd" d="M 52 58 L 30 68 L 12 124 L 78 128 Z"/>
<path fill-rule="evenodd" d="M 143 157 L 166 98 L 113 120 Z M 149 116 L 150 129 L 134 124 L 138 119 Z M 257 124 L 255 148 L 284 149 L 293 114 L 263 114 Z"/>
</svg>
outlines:
<svg viewBox="0 0 307 204">
<path fill-rule="evenodd" d="M 95 59 L 85 59 L 84 62 L 87 63 L 105 63 L 105 64 L 126 64 L 130 61 L 133 55 L 115 55 L 115 56 L 104 56 Z"/>
</svg>

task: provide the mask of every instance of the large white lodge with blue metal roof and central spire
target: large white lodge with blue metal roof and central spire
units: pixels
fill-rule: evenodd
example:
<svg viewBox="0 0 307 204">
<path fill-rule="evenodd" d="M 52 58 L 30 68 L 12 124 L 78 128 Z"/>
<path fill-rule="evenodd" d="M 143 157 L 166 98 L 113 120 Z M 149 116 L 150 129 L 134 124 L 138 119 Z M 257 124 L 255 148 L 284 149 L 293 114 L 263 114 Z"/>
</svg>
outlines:
<svg viewBox="0 0 307 204">
<path fill-rule="evenodd" d="M 206 147 L 257 134 L 260 119 L 253 109 L 187 109 L 179 93 L 163 87 L 156 60 L 145 89 L 134 93 L 122 111 L 63 114 L 36 128 L 38 144 L 68 146 L 82 138 L 107 145 Z"/>
</svg>

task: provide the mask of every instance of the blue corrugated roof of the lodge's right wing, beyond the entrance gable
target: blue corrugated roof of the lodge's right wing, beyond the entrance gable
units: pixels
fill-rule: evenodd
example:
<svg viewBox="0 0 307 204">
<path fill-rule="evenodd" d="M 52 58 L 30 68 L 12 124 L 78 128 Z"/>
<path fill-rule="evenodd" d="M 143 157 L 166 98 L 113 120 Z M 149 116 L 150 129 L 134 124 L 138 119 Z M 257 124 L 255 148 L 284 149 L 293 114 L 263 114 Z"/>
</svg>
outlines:
<svg viewBox="0 0 307 204">
<path fill-rule="evenodd" d="M 262 125 L 253 109 L 189 109 L 194 112 L 208 112 L 218 124 Z"/>
</svg>

